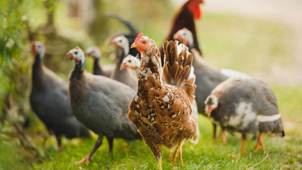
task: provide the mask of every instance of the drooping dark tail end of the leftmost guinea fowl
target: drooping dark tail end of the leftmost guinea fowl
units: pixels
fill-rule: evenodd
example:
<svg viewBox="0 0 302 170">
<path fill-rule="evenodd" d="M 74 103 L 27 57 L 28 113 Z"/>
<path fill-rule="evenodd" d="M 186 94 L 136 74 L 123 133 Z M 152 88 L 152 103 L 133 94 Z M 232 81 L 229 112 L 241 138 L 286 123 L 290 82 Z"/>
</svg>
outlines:
<svg viewBox="0 0 302 170">
<path fill-rule="evenodd" d="M 74 117 L 69 117 L 62 123 L 61 131 L 66 138 L 90 138 L 89 130 Z"/>
</svg>

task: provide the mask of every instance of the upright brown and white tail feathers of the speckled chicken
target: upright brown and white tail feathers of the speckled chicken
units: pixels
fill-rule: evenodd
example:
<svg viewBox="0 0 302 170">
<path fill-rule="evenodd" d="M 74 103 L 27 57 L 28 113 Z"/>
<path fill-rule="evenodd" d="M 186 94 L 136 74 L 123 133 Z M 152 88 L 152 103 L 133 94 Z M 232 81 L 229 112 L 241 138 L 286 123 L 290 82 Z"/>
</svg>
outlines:
<svg viewBox="0 0 302 170">
<path fill-rule="evenodd" d="M 185 44 L 178 44 L 178 41 L 165 41 L 163 49 L 165 53 L 163 79 L 168 84 L 184 89 L 192 102 L 196 89 L 192 54 Z"/>
</svg>

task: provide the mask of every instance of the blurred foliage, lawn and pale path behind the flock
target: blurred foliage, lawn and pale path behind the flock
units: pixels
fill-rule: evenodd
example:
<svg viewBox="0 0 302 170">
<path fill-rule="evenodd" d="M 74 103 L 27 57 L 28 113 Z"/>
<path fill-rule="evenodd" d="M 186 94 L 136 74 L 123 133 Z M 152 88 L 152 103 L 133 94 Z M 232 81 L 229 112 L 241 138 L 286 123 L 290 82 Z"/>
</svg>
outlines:
<svg viewBox="0 0 302 170">
<path fill-rule="evenodd" d="M 102 64 L 115 63 L 110 37 L 128 32 L 112 12 L 161 45 L 185 0 L 2 0 L 0 2 L 0 169 L 43 162 L 55 139 L 31 111 L 30 42 L 46 46 L 44 64 L 67 81 L 73 47 L 100 47 Z M 195 21 L 203 56 L 217 68 L 265 81 L 275 92 L 288 140 L 301 149 L 302 1 L 207 0 Z M 85 61 L 91 72 L 92 59 Z M 202 120 L 203 121 L 203 120 Z M 203 127 L 201 127 L 203 128 Z M 207 130 L 210 133 L 210 129 Z M 64 141 L 63 141 L 64 142 Z M 65 141 L 66 142 L 66 141 Z M 75 145 L 78 139 L 72 140 Z M 300 155 L 301 156 L 301 155 Z M 302 157 L 300 158 L 302 165 Z"/>
</svg>

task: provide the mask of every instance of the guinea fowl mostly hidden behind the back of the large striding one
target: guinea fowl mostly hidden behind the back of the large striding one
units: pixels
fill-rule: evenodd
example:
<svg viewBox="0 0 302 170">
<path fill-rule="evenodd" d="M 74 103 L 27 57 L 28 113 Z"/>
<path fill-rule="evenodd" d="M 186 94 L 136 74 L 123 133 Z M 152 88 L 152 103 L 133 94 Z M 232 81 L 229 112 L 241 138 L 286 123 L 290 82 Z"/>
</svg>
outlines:
<svg viewBox="0 0 302 170">
<path fill-rule="evenodd" d="M 101 58 L 101 50 L 98 47 L 89 47 L 85 53 L 86 56 L 93 58 L 93 74 L 111 77 L 115 67 L 114 65 L 103 65 L 100 66 L 98 61 Z"/>
</svg>

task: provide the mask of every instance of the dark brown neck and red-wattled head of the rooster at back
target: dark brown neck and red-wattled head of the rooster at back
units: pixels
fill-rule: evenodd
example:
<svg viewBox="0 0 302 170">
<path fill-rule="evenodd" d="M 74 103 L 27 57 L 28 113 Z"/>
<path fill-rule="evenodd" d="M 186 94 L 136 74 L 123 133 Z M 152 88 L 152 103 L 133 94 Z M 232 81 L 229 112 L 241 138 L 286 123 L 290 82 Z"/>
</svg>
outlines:
<svg viewBox="0 0 302 170">
<path fill-rule="evenodd" d="M 196 36 L 196 29 L 195 29 L 195 23 L 194 19 L 200 19 L 202 15 L 201 7 L 199 4 L 203 3 L 203 0 L 189 0 L 184 5 L 182 5 L 182 8 L 176 13 L 171 30 L 165 39 L 166 41 L 173 40 L 174 34 L 182 29 L 182 28 L 188 28 L 192 34 L 193 34 L 193 41 L 195 44 L 196 50 L 202 54 L 201 49 L 199 48 L 197 36 Z M 159 49 L 160 55 L 161 55 L 161 61 L 162 65 L 164 64 L 164 51 L 163 48 L 160 47 Z"/>
</svg>

